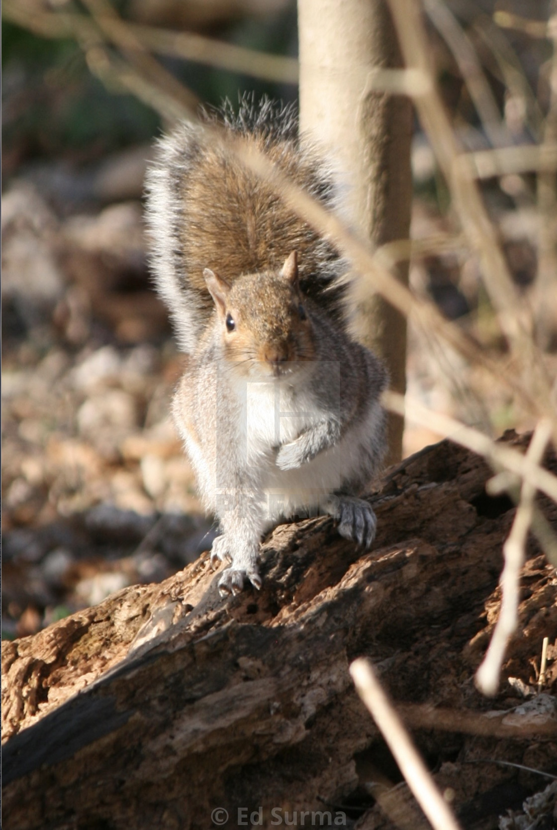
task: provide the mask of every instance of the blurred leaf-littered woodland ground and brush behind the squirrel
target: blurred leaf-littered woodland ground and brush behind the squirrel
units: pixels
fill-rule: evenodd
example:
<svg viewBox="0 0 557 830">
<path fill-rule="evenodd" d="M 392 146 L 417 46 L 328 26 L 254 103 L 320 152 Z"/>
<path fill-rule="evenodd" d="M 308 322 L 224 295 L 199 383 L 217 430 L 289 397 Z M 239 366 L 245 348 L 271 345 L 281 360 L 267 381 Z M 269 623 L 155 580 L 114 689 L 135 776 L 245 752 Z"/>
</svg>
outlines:
<svg viewBox="0 0 557 830">
<path fill-rule="evenodd" d="M 463 147 L 555 144 L 551 3 L 425 6 Z M 16 637 L 164 579 L 212 543 L 169 420 L 181 358 L 149 281 L 144 171 L 154 138 L 199 102 L 246 90 L 296 101 L 297 32 L 291 0 L 4 0 L 2 18 L 2 637 Z M 438 241 L 413 258 L 413 291 L 505 361 L 418 122 L 412 164 L 413 240 Z M 481 188 L 530 303 L 540 251 L 546 269 L 557 261 L 540 173 Z M 555 374 L 557 285 L 544 286 L 539 338 Z M 532 426 L 508 388 L 413 328 L 408 391 L 493 436 Z M 405 453 L 435 440 L 408 424 Z"/>
</svg>

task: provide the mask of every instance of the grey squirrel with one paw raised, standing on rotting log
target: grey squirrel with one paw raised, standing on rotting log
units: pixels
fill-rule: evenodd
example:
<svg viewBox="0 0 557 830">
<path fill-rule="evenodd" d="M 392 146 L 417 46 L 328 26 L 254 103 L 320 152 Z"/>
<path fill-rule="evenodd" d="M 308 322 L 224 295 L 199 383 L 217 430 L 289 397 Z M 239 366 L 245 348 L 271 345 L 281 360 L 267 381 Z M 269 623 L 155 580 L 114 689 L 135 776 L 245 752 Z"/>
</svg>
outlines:
<svg viewBox="0 0 557 830">
<path fill-rule="evenodd" d="M 290 107 L 244 98 L 205 117 L 338 209 Z M 388 375 L 349 334 L 347 261 L 203 125 L 159 139 L 146 193 L 156 285 L 187 355 L 173 418 L 220 521 L 211 564 L 230 562 L 219 592 L 261 588 L 259 544 L 280 520 L 329 514 L 369 548 L 376 518 L 358 495 L 386 450 Z"/>
</svg>

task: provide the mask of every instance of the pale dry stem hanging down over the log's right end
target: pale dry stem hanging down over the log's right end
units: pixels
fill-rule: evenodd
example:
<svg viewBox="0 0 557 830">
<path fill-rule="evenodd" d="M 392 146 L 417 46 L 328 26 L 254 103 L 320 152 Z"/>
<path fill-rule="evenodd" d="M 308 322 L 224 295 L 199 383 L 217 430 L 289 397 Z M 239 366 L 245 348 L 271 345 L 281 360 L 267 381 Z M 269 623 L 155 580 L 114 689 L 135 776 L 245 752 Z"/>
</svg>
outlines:
<svg viewBox="0 0 557 830">
<path fill-rule="evenodd" d="M 533 473 L 534 479 L 540 471 L 540 462 L 551 437 L 551 424 L 542 420 L 535 428 L 534 435 L 524 457 L 525 467 Z M 485 695 L 495 695 L 499 675 L 505 656 L 506 644 L 515 632 L 518 623 L 519 575 L 525 561 L 525 545 L 534 513 L 535 484 L 526 479 L 522 482 L 520 502 L 516 509 L 511 533 L 503 545 L 505 565 L 501 574 L 501 610 L 491 642 L 481 666 L 476 672 L 476 685 Z"/>
</svg>

